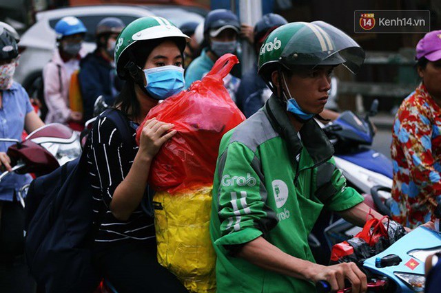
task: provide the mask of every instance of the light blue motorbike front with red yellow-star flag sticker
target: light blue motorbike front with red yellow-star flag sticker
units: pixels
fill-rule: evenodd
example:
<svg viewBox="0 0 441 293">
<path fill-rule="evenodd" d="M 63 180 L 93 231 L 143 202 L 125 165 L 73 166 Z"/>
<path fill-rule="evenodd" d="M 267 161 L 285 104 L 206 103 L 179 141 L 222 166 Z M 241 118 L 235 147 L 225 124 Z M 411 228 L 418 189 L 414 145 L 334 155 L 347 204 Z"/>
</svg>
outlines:
<svg viewBox="0 0 441 293">
<path fill-rule="evenodd" d="M 362 270 L 368 279 L 368 292 L 424 292 L 426 259 L 431 254 L 441 252 L 440 204 L 435 210 L 435 217 L 435 230 L 418 227 L 386 250 L 363 261 Z M 318 282 L 317 290 L 331 292 L 326 281 Z M 343 292 L 351 292 L 351 287 L 338 291 Z"/>
</svg>

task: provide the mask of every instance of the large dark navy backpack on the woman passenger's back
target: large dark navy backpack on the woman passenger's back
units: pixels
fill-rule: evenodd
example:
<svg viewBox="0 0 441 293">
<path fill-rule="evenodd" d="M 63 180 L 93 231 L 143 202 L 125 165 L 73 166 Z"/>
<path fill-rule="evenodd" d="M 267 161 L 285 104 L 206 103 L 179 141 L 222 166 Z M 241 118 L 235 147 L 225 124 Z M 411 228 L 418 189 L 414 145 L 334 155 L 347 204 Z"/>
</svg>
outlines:
<svg viewBox="0 0 441 293">
<path fill-rule="evenodd" d="M 120 111 L 101 116 L 120 129 L 123 141 L 132 140 Z M 87 147 L 80 158 L 30 184 L 25 202 L 25 257 L 32 276 L 44 292 L 92 292 L 100 276 L 92 266 L 92 243 L 103 211 L 92 224 L 92 187 Z"/>
</svg>

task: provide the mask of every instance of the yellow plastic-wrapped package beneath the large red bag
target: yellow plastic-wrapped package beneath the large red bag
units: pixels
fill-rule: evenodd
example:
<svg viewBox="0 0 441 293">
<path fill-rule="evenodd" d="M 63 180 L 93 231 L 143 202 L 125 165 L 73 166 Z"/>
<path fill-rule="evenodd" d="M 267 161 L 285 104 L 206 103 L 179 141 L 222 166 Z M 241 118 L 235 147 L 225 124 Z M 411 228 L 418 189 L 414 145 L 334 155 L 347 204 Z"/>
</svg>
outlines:
<svg viewBox="0 0 441 293">
<path fill-rule="evenodd" d="M 216 292 L 216 252 L 209 238 L 212 187 L 154 195 L 158 262 L 190 292 Z"/>
</svg>

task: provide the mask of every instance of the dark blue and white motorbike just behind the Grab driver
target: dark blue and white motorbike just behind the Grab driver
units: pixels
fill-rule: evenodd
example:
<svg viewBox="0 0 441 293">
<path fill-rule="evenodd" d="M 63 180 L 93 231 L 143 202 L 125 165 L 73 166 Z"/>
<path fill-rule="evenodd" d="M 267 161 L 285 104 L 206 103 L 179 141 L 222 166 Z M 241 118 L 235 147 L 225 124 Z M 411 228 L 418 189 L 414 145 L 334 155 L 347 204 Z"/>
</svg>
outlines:
<svg viewBox="0 0 441 293">
<path fill-rule="evenodd" d="M 392 200 L 392 162 L 370 148 L 375 132 L 369 117 L 377 112 L 378 100 L 374 100 L 365 118 L 344 111 L 328 124 L 317 122 L 334 145 L 336 167 L 347 179 L 347 186 L 362 194 L 371 208 L 383 215 L 390 215 L 387 206 Z M 327 264 L 332 246 L 360 230 L 360 227 L 353 226 L 336 214 L 323 210 L 309 235 L 309 246 L 316 261 Z"/>
</svg>

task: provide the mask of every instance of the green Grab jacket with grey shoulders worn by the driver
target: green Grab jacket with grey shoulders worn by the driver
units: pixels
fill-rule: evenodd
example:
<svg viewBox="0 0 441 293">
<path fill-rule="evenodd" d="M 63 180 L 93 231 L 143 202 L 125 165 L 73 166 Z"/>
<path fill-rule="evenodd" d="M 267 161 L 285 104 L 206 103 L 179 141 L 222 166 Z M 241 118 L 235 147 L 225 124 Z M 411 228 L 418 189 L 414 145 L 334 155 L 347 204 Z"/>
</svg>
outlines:
<svg viewBox="0 0 441 293">
<path fill-rule="evenodd" d="M 217 292 L 315 292 L 309 281 L 234 257 L 241 245 L 262 236 L 315 262 L 307 237 L 322 208 L 346 210 L 363 201 L 346 186 L 334 148 L 315 120 L 304 124 L 300 137 L 275 96 L 223 136 L 210 222 Z"/>
</svg>

